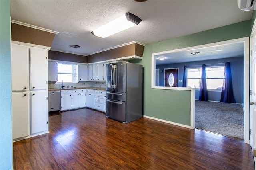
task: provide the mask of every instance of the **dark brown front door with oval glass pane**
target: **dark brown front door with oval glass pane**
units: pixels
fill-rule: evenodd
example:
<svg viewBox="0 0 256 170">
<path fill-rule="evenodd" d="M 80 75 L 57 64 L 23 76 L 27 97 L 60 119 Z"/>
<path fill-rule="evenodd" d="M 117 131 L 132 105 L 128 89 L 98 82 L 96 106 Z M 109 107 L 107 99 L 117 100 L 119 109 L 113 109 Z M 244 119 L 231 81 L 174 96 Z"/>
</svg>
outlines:
<svg viewBox="0 0 256 170">
<path fill-rule="evenodd" d="M 164 71 L 164 86 L 178 87 L 178 69 L 168 69 Z"/>
</svg>

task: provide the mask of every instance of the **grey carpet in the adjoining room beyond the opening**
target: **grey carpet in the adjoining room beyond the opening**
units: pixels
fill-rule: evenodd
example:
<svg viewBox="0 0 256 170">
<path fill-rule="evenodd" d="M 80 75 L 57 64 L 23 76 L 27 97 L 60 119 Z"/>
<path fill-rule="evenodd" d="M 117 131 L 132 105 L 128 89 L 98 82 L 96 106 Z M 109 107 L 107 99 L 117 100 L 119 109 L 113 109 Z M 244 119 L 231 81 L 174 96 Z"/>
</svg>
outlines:
<svg viewBox="0 0 256 170">
<path fill-rule="evenodd" d="M 243 107 L 196 100 L 196 128 L 244 140 Z"/>
</svg>

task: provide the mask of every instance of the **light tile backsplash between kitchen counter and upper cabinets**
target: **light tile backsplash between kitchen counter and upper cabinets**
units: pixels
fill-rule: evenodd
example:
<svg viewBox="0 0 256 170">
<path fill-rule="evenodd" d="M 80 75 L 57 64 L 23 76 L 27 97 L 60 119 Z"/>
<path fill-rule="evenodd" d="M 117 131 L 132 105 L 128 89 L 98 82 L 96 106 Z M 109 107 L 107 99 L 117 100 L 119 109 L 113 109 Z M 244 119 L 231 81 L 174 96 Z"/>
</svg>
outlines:
<svg viewBox="0 0 256 170">
<path fill-rule="evenodd" d="M 106 87 L 106 82 L 78 82 L 73 84 L 64 83 L 65 88 L 73 86 L 73 87 Z M 54 84 L 54 82 L 49 82 L 48 88 L 61 88 L 60 84 Z"/>
</svg>

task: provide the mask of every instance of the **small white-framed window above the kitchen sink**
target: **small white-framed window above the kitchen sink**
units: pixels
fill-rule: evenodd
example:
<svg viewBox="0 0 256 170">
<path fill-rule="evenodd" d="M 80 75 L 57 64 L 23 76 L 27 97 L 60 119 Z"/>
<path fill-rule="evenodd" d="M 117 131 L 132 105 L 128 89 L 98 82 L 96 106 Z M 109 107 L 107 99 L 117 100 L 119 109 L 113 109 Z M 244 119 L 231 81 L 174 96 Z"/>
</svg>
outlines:
<svg viewBox="0 0 256 170">
<path fill-rule="evenodd" d="M 57 83 L 78 83 L 77 64 L 57 63 L 58 81 Z"/>
</svg>

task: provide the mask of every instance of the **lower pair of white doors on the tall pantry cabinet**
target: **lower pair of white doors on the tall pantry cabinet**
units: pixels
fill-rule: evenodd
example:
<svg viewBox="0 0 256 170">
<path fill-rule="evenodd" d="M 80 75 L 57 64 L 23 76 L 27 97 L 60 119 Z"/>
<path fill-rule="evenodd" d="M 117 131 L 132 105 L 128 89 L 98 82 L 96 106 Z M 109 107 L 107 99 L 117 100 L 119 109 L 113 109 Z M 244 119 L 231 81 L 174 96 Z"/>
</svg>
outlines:
<svg viewBox="0 0 256 170">
<path fill-rule="evenodd" d="M 48 92 L 12 92 L 12 139 L 48 131 Z"/>
</svg>

